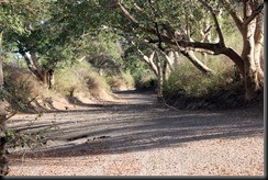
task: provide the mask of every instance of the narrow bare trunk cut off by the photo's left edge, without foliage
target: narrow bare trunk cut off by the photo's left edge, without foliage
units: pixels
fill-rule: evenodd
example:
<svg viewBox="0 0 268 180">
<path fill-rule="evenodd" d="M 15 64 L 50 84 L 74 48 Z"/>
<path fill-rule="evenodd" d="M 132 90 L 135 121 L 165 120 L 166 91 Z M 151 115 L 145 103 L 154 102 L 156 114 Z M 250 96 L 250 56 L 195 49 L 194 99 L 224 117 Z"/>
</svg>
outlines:
<svg viewBox="0 0 268 180">
<path fill-rule="evenodd" d="M 0 32 L 0 52 L 2 50 L 2 32 Z M 9 172 L 9 164 L 5 154 L 5 108 L 3 104 L 3 68 L 2 68 L 2 57 L 0 54 L 0 175 L 5 176 Z"/>
</svg>

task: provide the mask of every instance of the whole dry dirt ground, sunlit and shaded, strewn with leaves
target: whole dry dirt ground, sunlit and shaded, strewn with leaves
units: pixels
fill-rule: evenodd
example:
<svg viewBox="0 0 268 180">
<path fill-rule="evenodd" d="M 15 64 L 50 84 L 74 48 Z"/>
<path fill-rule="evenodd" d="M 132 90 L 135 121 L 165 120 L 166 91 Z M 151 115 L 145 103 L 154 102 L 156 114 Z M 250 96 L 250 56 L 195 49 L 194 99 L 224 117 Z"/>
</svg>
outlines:
<svg viewBox="0 0 268 180">
<path fill-rule="evenodd" d="M 154 94 L 118 97 L 10 119 L 11 130 L 46 139 L 10 147 L 9 176 L 265 176 L 263 105 L 180 111 Z"/>
</svg>

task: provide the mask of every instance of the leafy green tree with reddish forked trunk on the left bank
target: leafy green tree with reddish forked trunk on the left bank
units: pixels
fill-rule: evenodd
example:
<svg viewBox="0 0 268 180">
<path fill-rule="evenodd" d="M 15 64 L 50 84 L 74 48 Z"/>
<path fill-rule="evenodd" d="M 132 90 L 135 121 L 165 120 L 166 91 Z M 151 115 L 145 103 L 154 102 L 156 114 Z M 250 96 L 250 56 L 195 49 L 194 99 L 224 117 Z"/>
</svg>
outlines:
<svg viewBox="0 0 268 180">
<path fill-rule="evenodd" d="M 27 35 L 12 32 L 8 36 L 12 42 L 8 46 L 24 57 L 29 70 L 48 88 L 59 63 L 71 63 L 92 50 L 91 41 L 100 31 L 94 22 L 99 13 L 85 2 L 46 2 L 41 19 L 27 21 Z"/>
</svg>

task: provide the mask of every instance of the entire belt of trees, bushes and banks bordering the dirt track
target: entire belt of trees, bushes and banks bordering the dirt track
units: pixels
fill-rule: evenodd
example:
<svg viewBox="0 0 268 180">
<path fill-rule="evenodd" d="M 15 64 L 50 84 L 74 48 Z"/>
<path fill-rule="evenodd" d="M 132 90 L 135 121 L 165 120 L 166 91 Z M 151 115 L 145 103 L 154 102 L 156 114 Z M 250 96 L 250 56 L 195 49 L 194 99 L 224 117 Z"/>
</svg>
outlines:
<svg viewBox="0 0 268 180">
<path fill-rule="evenodd" d="M 0 1 L 0 175 L 12 115 L 134 89 L 177 109 L 263 103 L 264 1 Z"/>
</svg>

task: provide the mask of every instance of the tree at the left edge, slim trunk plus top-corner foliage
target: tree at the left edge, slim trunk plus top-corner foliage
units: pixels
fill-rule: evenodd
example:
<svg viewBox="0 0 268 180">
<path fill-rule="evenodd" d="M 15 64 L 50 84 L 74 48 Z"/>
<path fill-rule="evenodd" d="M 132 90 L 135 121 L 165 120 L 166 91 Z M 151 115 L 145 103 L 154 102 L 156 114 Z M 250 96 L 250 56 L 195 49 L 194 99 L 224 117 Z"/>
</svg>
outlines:
<svg viewBox="0 0 268 180">
<path fill-rule="evenodd" d="M 41 12 L 40 1 L 0 1 L 0 175 L 9 172 L 8 157 L 5 154 L 5 106 L 4 106 L 4 80 L 2 71 L 2 44 L 4 33 L 13 31 L 20 34 L 26 33 L 27 20 L 36 18 Z"/>
</svg>

